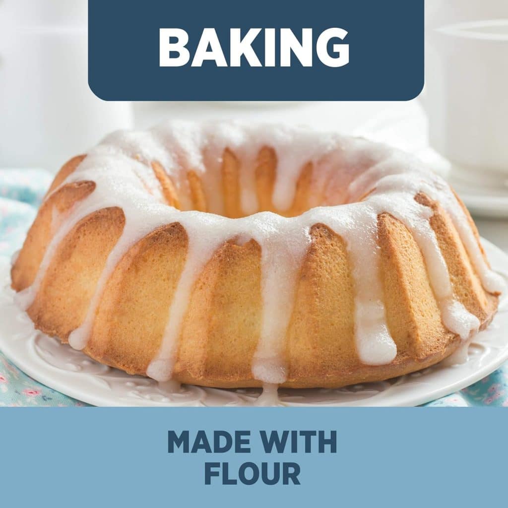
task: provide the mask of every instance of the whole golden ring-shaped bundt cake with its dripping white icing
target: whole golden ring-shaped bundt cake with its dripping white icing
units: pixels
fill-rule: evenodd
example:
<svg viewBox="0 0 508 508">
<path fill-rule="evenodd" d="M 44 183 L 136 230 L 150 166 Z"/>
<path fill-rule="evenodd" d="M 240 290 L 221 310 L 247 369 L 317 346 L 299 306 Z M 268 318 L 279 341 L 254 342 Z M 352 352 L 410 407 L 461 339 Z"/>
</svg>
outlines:
<svg viewBox="0 0 508 508">
<path fill-rule="evenodd" d="M 117 132 L 55 177 L 12 266 L 36 328 L 161 382 L 340 387 L 428 367 L 501 279 L 411 156 L 306 128 Z"/>
</svg>

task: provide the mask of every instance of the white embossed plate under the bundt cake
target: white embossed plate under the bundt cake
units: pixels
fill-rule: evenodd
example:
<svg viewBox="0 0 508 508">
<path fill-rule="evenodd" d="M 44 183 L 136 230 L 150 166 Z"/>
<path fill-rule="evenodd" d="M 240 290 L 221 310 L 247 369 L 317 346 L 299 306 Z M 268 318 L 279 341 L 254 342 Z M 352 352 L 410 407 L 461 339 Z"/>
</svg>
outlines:
<svg viewBox="0 0 508 508">
<path fill-rule="evenodd" d="M 492 267 L 508 280 L 508 256 L 483 240 Z M 21 370 L 59 392 L 98 406 L 220 406 L 257 405 L 260 390 L 220 390 L 171 384 L 131 376 L 101 365 L 59 340 L 34 330 L 28 316 L 13 302 L 9 266 L 0 266 L 0 349 Z M 469 346 L 468 360 L 428 369 L 382 383 L 341 389 L 279 390 L 287 406 L 413 406 L 449 395 L 493 372 L 508 359 L 508 298 L 504 292 L 489 328 Z"/>
</svg>

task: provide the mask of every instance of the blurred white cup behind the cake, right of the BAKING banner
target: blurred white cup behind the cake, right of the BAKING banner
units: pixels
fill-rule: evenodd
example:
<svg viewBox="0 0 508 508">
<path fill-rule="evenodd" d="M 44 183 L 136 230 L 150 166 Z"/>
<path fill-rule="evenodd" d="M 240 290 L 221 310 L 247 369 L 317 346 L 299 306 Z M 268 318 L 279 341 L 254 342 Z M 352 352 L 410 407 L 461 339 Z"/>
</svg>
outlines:
<svg viewBox="0 0 508 508">
<path fill-rule="evenodd" d="M 427 33 L 429 143 L 483 183 L 508 181 L 508 19 Z M 508 192 L 508 187 L 507 187 Z"/>
</svg>

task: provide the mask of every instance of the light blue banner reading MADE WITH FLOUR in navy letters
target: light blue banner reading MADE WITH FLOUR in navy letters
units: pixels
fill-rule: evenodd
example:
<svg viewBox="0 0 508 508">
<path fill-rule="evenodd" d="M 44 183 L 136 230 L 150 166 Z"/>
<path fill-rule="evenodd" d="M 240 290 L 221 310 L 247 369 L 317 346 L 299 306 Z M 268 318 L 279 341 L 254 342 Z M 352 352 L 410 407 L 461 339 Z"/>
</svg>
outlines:
<svg viewBox="0 0 508 508">
<path fill-rule="evenodd" d="M 485 408 L 4 408 L 0 503 L 503 506 L 507 419 Z"/>
</svg>

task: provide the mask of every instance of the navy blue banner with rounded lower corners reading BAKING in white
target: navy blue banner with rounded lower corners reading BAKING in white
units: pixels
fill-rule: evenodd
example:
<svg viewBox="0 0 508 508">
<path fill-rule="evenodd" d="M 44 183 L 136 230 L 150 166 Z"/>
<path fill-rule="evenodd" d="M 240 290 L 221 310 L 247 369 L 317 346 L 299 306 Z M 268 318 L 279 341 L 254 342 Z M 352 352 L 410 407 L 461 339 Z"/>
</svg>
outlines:
<svg viewBox="0 0 508 508">
<path fill-rule="evenodd" d="M 89 0 L 105 100 L 404 101 L 424 82 L 424 0 Z"/>
</svg>

